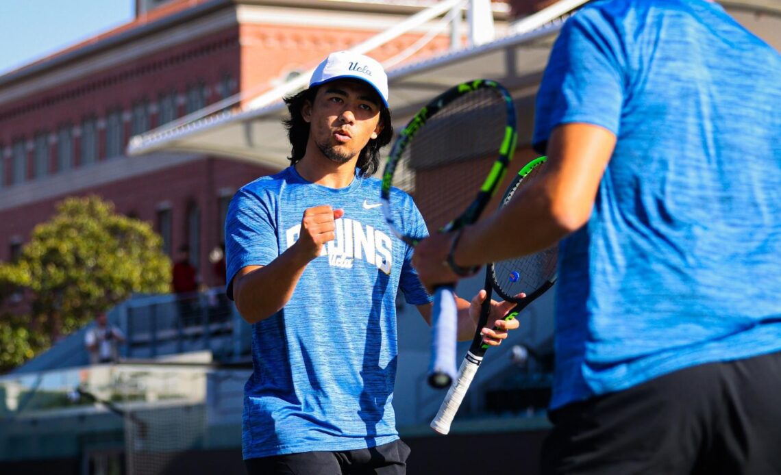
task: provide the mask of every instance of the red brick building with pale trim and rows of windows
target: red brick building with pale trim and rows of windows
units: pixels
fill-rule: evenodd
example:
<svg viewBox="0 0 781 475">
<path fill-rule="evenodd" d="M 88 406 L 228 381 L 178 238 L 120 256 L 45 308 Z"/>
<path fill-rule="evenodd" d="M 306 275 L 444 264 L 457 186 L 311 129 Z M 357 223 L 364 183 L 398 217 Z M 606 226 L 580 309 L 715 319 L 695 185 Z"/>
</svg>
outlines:
<svg viewBox="0 0 781 475">
<path fill-rule="evenodd" d="M 271 164 L 203 151 L 128 158 L 129 138 L 254 97 L 432 3 L 137 0 L 130 23 L 0 76 L 0 260 L 15 257 L 64 197 L 95 193 L 152 222 L 172 257 L 189 244 L 202 282 L 219 285 L 208 258 L 223 240 L 230 197 L 284 156 Z M 371 55 L 396 55 L 427 30 Z M 413 57 L 450 43 L 436 34 Z"/>
</svg>

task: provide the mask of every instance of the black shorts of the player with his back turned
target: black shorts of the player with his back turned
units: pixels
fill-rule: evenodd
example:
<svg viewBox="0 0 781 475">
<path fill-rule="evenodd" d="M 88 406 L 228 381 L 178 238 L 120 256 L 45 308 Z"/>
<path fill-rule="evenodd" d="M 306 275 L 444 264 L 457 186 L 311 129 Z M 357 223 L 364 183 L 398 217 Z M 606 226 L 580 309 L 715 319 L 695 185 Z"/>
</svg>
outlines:
<svg viewBox="0 0 781 475">
<path fill-rule="evenodd" d="M 544 474 L 781 474 L 781 353 L 686 368 L 549 417 Z"/>
</svg>

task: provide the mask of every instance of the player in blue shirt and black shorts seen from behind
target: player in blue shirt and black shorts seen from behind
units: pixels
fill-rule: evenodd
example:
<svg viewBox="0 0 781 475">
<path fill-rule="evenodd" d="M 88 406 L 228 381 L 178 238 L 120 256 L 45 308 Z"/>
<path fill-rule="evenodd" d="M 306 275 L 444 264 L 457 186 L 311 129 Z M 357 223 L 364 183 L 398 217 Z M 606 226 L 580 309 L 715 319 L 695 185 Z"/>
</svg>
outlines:
<svg viewBox="0 0 781 475">
<path fill-rule="evenodd" d="M 542 179 L 413 263 L 563 238 L 543 473 L 781 473 L 778 51 L 715 2 L 590 2 L 535 121 Z"/>
</svg>

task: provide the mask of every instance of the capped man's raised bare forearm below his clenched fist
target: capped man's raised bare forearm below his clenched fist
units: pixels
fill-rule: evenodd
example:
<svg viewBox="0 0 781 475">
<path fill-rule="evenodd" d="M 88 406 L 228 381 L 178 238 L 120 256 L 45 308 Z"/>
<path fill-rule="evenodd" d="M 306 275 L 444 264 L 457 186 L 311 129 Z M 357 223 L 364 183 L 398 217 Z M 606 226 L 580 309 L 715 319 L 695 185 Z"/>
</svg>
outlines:
<svg viewBox="0 0 781 475">
<path fill-rule="evenodd" d="M 251 324 L 266 320 L 291 300 L 309 258 L 289 247 L 269 265 L 237 276 L 234 300 L 241 317 Z"/>
</svg>

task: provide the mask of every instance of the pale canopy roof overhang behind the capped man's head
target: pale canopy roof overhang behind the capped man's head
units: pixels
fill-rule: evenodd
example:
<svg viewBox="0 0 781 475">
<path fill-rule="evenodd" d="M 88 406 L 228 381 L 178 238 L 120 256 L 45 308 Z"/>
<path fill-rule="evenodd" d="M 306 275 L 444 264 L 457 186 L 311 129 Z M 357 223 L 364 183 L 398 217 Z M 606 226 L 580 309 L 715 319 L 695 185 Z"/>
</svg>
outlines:
<svg viewBox="0 0 781 475">
<path fill-rule="evenodd" d="M 586 1 L 561 0 L 549 8 L 553 10 L 558 6 L 558 15 L 566 16 Z M 725 0 L 719 3 L 730 12 L 742 15 L 744 22 L 758 21 L 759 16 L 764 15 L 769 21 L 757 23 L 758 28 L 773 35 L 770 43 L 776 48 L 781 44 L 781 5 L 777 0 Z M 387 69 L 397 128 L 441 91 L 466 80 L 497 80 L 511 90 L 516 100 L 533 97 L 562 18 L 532 21 L 539 24 L 528 28 L 530 31 L 516 29 L 517 33 L 487 44 Z M 289 164 L 286 157 L 290 154 L 290 144 L 281 123 L 287 112 L 281 98 L 280 95 L 261 107 L 253 107 L 249 101 L 246 103 L 249 106 L 233 112 L 210 114 L 203 119 L 185 118 L 183 123 L 135 136 L 130 140 L 128 154 L 197 152 L 282 168 Z M 528 120 L 530 115 L 519 114 L 519 120 L 524 116 Z"/>
</svg>

